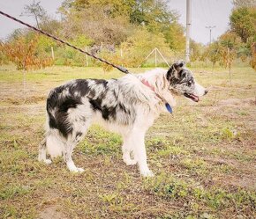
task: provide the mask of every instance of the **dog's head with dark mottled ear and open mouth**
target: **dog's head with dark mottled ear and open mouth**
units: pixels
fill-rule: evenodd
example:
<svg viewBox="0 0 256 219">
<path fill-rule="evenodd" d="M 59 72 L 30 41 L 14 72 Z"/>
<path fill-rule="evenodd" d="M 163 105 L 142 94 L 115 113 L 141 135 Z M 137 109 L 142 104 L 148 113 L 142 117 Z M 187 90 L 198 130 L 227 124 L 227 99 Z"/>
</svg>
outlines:
<svg viewBox="0 0 256 219">
<path fill-rule="evenodd" d="M 169 68 L 166 75 L 169 81 L 169 90 L 198 102 L 201 96 L 207 94 L 207 90 L 195 82 L 192 71 L 184 68 L 184 64 L 183 60 L 177 61 Z"/>
</svg>

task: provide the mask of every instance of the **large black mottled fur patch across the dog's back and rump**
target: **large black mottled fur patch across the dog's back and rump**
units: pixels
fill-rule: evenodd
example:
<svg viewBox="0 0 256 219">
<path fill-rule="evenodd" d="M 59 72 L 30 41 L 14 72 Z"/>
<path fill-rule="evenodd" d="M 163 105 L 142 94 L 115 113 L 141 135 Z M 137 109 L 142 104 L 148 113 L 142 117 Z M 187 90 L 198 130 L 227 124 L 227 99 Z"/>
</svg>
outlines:
<svg viewBox="0 0 256 219">
<path fill-rule="evenodd" d="M 64 137 L 72 133 L 72 124 L 68 120 L 68 110 L 82 105 L 81 99 L 83 97 L 87 97 L 94 111 L 102 113 L 104 120 L 116 120 L 117 112 L 123 111 L 124 113 L 131 114 L 123 104 L 116 101 L 118 93 L 109 86 L 109 83 L 115 83 L 115 81 L 116 79 L 110 81 L 103 79 L 77 79 L 56 87 L 56 89 L 50 92 L 47 99 L 49 127 L 58 129 Z M 97 87 L 99 88 L 98 90 Z M 114 101 L 104 105 L 102 100 L 107 95 L 114 98 Z"/>
</svg>

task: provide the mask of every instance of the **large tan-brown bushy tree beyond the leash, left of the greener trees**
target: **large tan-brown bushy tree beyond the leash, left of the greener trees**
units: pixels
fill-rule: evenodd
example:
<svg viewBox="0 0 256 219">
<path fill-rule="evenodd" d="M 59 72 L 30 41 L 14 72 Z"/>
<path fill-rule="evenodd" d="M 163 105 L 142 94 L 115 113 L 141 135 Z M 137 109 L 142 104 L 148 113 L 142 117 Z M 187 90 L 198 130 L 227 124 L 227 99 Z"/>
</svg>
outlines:
<svg viewBox="0 0 256 219">
<path fill-rule="evenodd" d="M 124 16 L 113 18 L 106 15 L 104 7 L 92 5 L 81 11 L 71 11 L 65 17 L 64 30 L 68 39 L 84 34 L 98 45 L 102 43 L 120 45 L 132 31 L 132 25 L 128 18 Z"/>
</svg>

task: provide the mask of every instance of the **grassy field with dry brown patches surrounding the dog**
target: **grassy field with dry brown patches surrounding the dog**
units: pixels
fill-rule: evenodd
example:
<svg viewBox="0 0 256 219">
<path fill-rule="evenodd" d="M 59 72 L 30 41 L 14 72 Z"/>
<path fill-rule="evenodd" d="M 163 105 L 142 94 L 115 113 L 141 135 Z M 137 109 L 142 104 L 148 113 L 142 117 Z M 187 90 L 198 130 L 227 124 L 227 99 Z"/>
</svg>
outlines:
<svg viewBox="0 0 256 219">
<path fill-rule="evenodd" d="M 178 99 L 155 121 L 146 142 L 155 177 L 142 179 L 124 164 L 120 136 L 97 126 L 74 152 L 82 174 L 37 161 L 49 90 L 122 73 L 52 67 L 23 84 L 22 71 L 0 66 L 0 218 L 255 218 L 256 72 L 234 68 L 230 84 L 228 69 L 192 70 L 209 93 Z"/>
</svg>

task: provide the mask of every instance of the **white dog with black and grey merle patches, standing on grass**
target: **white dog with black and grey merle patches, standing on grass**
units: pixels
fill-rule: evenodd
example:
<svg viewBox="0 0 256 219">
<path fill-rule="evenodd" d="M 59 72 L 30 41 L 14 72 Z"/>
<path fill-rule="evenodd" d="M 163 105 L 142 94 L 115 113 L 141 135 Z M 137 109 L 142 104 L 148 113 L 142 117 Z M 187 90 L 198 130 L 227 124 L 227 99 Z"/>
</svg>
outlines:
<svg viewBox="0 0 256 219">
<path fill-rule="evenodd" d="M 39 149 L 39 161 L 63 156 L 71 172 L 83 172 L 72 160 L 72 151 L 93 123 L 122 135 L 123 160 L 138 164 L 143 177 L 154 176 L 147 165 L 145 134 L 166 106 L 176 106 L 183 95 L 195 102 L 207 90 L 195 82 L 192 71 L 178 61 L 165 69 L 144 74 L 127 74 L 118 79 L 76 79 L 56 87 L 47 99 L 46 134 Z"/>
</svg>

